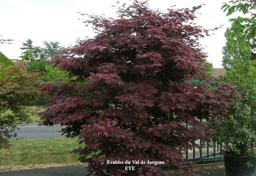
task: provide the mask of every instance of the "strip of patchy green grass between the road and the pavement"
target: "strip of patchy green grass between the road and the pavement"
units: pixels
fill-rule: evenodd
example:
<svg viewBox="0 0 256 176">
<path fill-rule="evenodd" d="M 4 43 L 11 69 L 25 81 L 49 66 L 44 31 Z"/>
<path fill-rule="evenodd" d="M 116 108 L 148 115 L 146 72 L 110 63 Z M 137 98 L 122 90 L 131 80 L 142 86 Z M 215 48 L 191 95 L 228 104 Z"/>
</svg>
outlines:
<svg viewBox="0 0 256 176">
<path fill-rule="evenodd" d="M 13 145 L 9 149 L 0 149 L 0 171 L 78 163 L 79 156 L 70 153 L 80 147 L 76 140 L 77 138 L 10 140 Z"/>
</svg>

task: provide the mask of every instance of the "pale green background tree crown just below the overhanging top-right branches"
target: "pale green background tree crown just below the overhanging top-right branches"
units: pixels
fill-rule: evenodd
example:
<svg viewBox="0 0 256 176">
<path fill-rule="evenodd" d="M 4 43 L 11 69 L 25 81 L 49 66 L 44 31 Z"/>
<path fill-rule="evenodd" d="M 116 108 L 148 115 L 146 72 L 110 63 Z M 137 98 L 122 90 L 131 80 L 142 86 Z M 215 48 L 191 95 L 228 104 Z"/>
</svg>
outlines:
<svg viewBox="0 0 256 176">
<path fill-rule="evenodd" d="M 231 44 L 230 38 L 228 38 L 228 31 L 230 29 L 227 28 L 225 32 L 225 37 L 227 39 L 226 45 L 222 48 L 222 66 L 230 71 L 231 68 L 236 70 L 236 72 L 240 74 L 247 74 L 250 67 L 250 57 L 251 57 L 251 48 L 245 47 L 245 50 L 242 51 L 241 48 L 238 47 L 238 44 Z M 239 38 L 241 33 L 236 34 L 236 38 Z"/>
</svg>

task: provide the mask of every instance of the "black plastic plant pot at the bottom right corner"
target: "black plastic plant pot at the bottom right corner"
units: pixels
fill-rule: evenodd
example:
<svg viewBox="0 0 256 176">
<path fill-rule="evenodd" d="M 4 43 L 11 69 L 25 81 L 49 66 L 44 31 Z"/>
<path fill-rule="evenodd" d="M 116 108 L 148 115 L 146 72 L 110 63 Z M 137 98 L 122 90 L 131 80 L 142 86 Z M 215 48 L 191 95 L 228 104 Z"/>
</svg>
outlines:
<svg viewBox="0 0 256 176">
<path fill-rule="evenodd" d="M 254 176 L 256 168 L 256 158 L 224 156 L 224 165 L 226 176 Z M 252 163 L 252 167 L 248 168 L 247 162 Z"/>
</svg>

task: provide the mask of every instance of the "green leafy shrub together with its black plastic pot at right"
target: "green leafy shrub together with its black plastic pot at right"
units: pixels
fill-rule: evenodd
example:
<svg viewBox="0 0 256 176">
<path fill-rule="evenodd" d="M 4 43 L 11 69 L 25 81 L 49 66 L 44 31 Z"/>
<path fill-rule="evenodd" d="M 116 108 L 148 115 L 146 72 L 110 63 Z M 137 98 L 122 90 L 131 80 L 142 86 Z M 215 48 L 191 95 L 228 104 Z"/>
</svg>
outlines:
<svg viewBox="0 0 256 176">
<path fill-rule="evenodd" d="M 236 81 L 237 99 L 230 112 L 220 117 L 213 141 L 222 144 L 226 176 L 254 176 L 256 167 L 256 85 Z"/>
</svg>

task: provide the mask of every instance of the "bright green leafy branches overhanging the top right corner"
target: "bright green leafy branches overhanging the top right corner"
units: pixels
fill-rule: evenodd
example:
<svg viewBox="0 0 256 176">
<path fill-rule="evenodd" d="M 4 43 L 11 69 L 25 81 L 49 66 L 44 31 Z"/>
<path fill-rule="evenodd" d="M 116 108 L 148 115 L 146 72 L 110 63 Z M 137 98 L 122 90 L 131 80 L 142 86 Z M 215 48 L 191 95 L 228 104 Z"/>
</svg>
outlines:
<svg viewBox="0 0 256 176">
<path fill-rule="evenodd" d="M 244 51 L 246 47 L 250 47 L 250 40 L 255 37 L 256 33 L 256 1 L 255 0 L 232 0 L 229 3 L 223 3 L 221 9 L 227 11 L 227 16 L 234 12 L 243 12 L 243 14 L 250 14 L 250 18 L 240 17 L 231 18 L 229 21 L 234 22 L 232 28 L 228 32 L 230 43 Z M 242 31 L 242 35 L 236 38 L 236 34 Z"/>
</svg>

